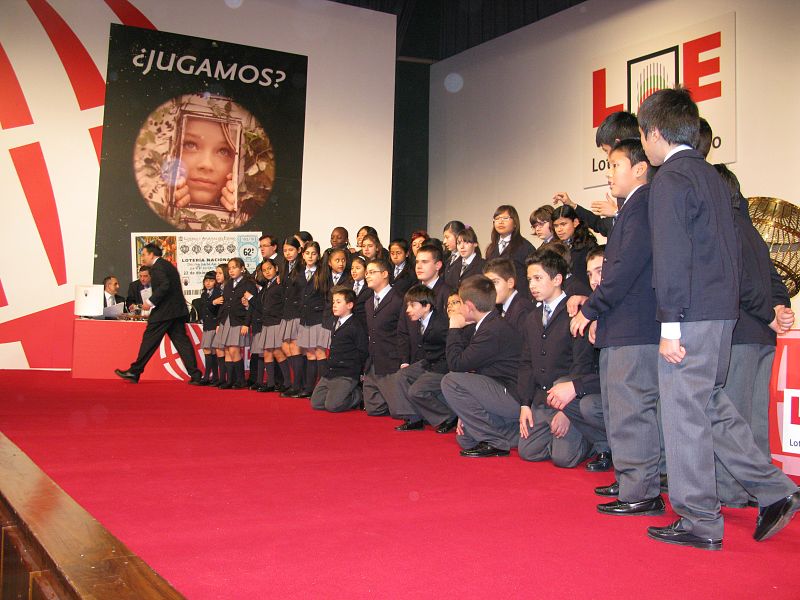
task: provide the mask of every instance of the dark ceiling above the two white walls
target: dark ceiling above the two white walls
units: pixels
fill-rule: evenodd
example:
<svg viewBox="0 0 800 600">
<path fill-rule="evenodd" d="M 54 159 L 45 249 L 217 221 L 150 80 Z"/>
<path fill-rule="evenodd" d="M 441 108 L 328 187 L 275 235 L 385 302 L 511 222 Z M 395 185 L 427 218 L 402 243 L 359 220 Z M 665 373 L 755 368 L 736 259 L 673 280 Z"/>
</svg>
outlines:
<svg viewBox="0 0 800 600">
<path fill-rule="evenodd" d="M 436 62 L 584 0 L 333 0 L 397 16 L 398 60 Z"/>
</svg>

